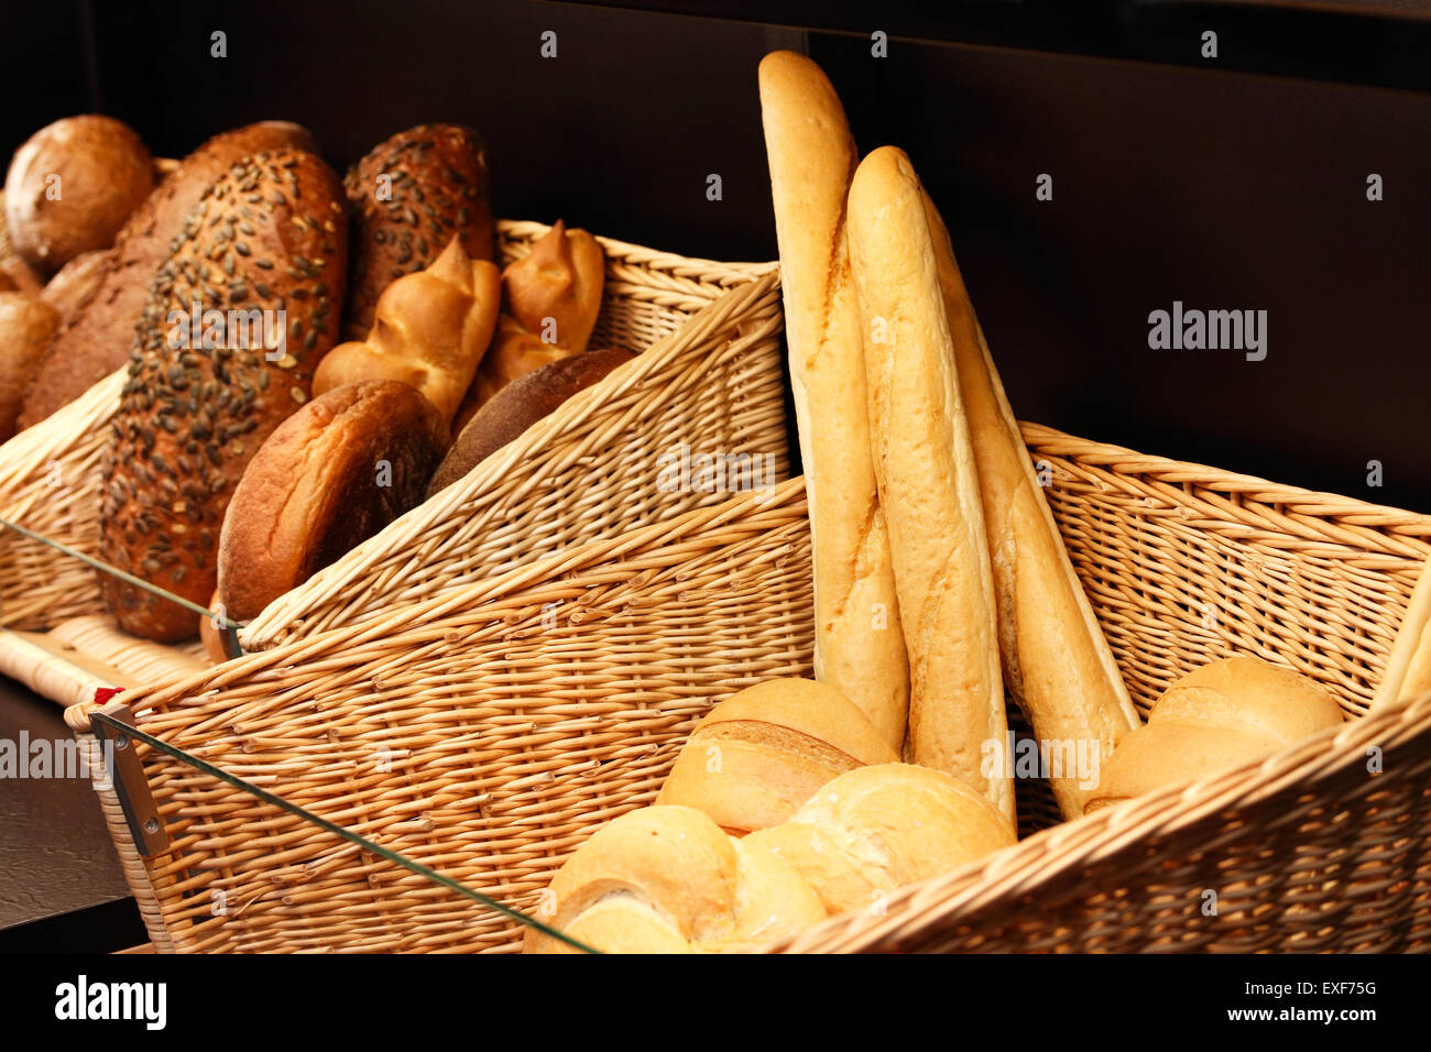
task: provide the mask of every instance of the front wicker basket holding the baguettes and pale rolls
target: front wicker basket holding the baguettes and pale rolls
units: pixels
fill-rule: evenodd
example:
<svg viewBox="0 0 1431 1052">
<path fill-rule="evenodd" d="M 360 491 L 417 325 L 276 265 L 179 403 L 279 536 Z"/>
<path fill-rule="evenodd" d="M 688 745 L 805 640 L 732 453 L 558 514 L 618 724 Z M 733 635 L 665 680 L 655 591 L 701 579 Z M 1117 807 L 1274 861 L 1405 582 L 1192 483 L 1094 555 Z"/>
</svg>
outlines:
<svg viewBox="0 0 1431 1052">
<path fill-rule="evenodd" d="M 1365 713 L 1431 517 L 1042 427 L 1025 438 L 1143 711 L 1178 676 L 1251 653 L 1318 680 L 1354 719 L 1066 824 L 1046 784 L 1020 783 L 1019 844 L 777 949 L 1431 949 L 1431 698 Z M 165 741 L 531 909 L 582 837 L 654 799 L 708 704 L 809 667 L 797 485 L 126 697 Z M 544 607 L 572 615 L 544 634 Z M 93 744 L 87 708 L 67 719 Z M 411 750 L 401 767 L 355 780 L 353 743 L 388 739 Z M 102 799 L 160 949 L 519 942 L 512 922 L 183 763 L 150 754 L 143 777 L 167 853 L 143 862 Z M 213 889 L 245 912 L 210 916 Z"/>
</svg>

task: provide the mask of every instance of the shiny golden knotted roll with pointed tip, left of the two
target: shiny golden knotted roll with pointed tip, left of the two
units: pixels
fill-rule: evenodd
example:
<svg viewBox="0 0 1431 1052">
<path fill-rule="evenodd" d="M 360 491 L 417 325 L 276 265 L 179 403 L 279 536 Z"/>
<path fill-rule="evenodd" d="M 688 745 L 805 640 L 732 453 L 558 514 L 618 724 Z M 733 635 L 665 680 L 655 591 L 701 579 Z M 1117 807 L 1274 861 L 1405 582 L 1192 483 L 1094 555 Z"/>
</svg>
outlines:
<svg viewBox="0 0 1431 1052">
<path fill-rule="evenodd" d="M 359 381 L 398 381 L 421 391 L 451 428 L 499 306 L 497 266 L 469 258 L 454 236 L 432 266 L 384 289 L 365 341 L 341 344 L 323 356 L 313 394 Z"/>
</svg>

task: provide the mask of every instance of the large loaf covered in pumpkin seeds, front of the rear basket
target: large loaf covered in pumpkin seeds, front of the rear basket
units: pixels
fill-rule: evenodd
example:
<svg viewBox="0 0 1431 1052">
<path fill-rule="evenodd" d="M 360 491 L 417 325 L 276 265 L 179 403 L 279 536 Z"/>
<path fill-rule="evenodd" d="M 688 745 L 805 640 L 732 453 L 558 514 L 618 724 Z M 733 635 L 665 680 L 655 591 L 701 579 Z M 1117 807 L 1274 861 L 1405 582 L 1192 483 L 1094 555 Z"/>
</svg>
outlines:
<svg viewBox="0 0 1431 1052">
<path fill-rule="evenodd" d="M 342 183 L 312 153 L 236 163 L 189 213 L 149 289 L 103 462 L 100 557 L 197 604 L 249 459 L 312 394 L 342 316 Z M 120 627 L 165 643 L 193 611 L 102 575 Z"/>
</svg>

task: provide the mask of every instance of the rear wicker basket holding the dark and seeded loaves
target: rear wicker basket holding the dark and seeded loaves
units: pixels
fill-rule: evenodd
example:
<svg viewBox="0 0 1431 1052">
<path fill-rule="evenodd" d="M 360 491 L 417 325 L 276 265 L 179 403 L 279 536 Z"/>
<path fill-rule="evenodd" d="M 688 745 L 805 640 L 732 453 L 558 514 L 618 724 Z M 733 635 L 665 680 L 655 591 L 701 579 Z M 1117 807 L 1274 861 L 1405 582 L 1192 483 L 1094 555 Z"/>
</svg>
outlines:
<svg viewBox="0 0 1431 1052">
<path fill-rule="evenodd" d="M 499 223 L 504 259 L 525 255 L 547 229 Z M 600 240 L 607 285 L 592 341 L 641 351 L 637 361 L 283 597 L 258 620 L 246 646 L 348 624 L 461 580 L 726 500 L 660 485 L 655 458 L 680 442 L 760 457 L 768 479 L 786 478 L 777 265 L 717 263 Z M 123 371 L 109 376 L 0 447 L 0 518 L 97 554 L 99 464 L 123 382 Z M 0 625 L 46 631 L 102 613 L 93 570 L 0 532 Z M 109 681 L 153 681 L 145 678 L 153 670 L 147 647 L 112 624 L 102 635 L 93 627 L 83 634 L 110 656 L 102 673 Z M 27 671 L 36 644 L 44 641 L 0 634 L 0 670 L 62 703 L 86 697 L 92 677 L 70 676 L 63 664 L 43 678 Z M 96 657 L 73 644 L 70 653 Z M 192 660 L 179 654 L 167 676 L 190 670 Z"/>
</svg>

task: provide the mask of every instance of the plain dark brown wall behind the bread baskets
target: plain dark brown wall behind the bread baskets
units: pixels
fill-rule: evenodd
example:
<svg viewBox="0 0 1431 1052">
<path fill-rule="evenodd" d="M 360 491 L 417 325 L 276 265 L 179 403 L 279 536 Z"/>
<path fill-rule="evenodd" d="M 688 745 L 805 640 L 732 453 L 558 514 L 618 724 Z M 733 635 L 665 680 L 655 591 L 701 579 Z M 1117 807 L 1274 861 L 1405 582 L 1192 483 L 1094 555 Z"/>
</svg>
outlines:
<svg viewBox="0 0 1431 1052">
<path fill-rule="evenodd" d="M 488 139 L 499 215 L 770 259 L 756 66 L 794 47 L 829 72 L 861 149 L 913 157 L 1020 417 L 1431 511 L 1431 6 L 627 7 L 660 10 L 10 4 L 0 156 L 82 110 L 129 122 L 165 156 L 293 119 L 336 166 L 398 129 L 456 120 Z M 538 53 L 548 29 L 555 60 Z M 871 29 L 890 34 L 889 57 L 870 56 Z M 1219 33 L 1215 62 L 1199 57 L 1203 29 Z M 209 54 L 213 30 L 226 59 Z M 1053 202 L 1035 200 L 1042 172 Z M 1268 311 L 1266 361 L 1151 351 L 1148 313 L 1175 299 Z M 1371 459 L 1382 488 L 1367 484 Z"/>
</svg>

